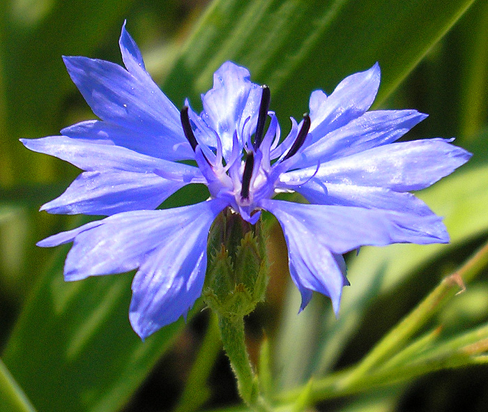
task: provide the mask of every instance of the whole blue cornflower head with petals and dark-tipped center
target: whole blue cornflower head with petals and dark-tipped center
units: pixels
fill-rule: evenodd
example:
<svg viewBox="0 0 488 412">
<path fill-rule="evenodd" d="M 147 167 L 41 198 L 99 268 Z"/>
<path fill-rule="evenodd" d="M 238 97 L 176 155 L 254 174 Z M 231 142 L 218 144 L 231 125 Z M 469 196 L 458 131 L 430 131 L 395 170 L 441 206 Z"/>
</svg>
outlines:
<svg viewBox="0 0 488 412">
<path fill-rule="evenodd" d="M 130 321 L 139 336 L 186 316 L 200 296 L 208 231 L 224 208 L 252 224 L 263 210 L 275 215 L 302 295 L 300 309 L 318 291 L 339 310 L 348 284 L 346 252 L 448 242 L 441 218 L 410 191 L 439 181 L 471 155 L 445 139 L 395 143 L 426 115 L 367 111 L 379 87 L 377 63 L 346 77 L 330 96 L 314 91 L 310 114 L 299 123 L 291 119 L 281 139 L 270 91 L 252 83 L 247 69 L 224 63 L 202 96 L 203 112 L 195 113 L 188 101 L 180 111 L 146 72 L 125 25 L 119 44 L 125 68 L 64 58 L 101 120 L 22 142 L 83 170 L 41 210 L 108 216 L 38 245 L 73 242 L 64 268 L 68 281 L 137 269 Z M 155 210 L 190 183 L 206 184 L 209 199 Z M 298 192 L 310 204 L 273 199 L 280 191 Z"/>
</svg>

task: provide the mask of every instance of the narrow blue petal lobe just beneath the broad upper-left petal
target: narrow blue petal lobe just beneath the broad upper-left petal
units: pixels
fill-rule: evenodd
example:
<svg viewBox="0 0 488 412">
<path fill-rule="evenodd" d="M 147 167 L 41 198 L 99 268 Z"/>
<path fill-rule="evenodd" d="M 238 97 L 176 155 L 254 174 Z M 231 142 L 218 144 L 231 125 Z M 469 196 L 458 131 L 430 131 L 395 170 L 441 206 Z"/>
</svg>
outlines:
<svg viewBox="0 0 488 412">
<path fill-rule="evenodd" d="M 97 144 L 114 144 L 129 148 L 137 153 L 165 160 L 192 159 L 193 151 L 188 142 L 174 144 L 170 139 L 158 135 L 157 131 L 133 130 L 106 121 L 83 121 L 61 130 L 61 135 L 73 139 L 89 139 Z"/>
</svg>

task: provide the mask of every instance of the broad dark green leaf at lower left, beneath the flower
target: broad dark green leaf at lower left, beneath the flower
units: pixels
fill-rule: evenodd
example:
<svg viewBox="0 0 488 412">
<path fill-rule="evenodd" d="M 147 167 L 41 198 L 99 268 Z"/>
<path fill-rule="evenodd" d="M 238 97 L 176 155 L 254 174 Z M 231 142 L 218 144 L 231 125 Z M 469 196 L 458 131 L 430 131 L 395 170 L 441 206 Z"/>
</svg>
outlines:
<svg viewBox="0 0 488 412">
<path fill-rule="evenodd" d="M 24 307 L 3 361 L 39 411 L 117 411 L 184 323 L 142 342 L 128 321 L 132 275 L 66 283 L 66 250 Z"/>
</svg>

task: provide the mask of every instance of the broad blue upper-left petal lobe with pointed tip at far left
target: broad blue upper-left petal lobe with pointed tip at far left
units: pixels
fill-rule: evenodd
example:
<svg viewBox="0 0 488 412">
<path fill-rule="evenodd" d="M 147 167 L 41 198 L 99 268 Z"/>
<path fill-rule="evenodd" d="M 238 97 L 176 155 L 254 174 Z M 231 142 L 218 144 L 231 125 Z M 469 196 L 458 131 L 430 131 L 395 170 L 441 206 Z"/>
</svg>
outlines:
<svg viewBox="0 0 488 412">
<path fill-rule="evenodd" d="M 149 76 L 135 77 L 121 66 L 81 56 L 63 57 L 71 79 L 93 113 L 137 135 L 160 135 L 169 144 L 186 142 L 178 109 Z"/>
</svg>

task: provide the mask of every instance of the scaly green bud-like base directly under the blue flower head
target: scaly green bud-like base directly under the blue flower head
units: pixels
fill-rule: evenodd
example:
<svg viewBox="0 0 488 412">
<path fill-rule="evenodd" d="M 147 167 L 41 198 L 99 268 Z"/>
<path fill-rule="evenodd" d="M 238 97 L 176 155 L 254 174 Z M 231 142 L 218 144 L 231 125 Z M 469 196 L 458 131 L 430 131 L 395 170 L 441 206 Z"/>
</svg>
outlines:
<svg viewBox="0 0 488 412">
<path fill-rule="evenodd" d="M 208 236 L 208 266 L 203 296 L 219 316 L 250 314 L 264 300 L 269 265 L 261 219 L 254 225 L 226 209 Z"/>
</svg>

